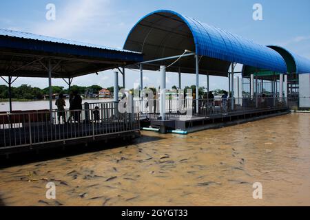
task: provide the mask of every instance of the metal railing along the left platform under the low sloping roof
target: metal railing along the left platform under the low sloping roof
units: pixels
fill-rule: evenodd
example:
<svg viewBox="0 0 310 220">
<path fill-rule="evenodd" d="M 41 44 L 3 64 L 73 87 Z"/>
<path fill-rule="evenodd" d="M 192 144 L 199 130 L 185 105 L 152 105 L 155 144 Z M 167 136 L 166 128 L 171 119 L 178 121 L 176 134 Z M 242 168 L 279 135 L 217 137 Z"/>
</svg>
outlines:
<svg viewBox="0 0 310 220">
<path fill-rule="evenodd" d="M 117 104 L 65 111 L 15 111 L 0 113 L 0 148 L 67 142 L 85 137 L 125 133 L 140 129 L 138 113 L 119 113 Z"/>
</svg>

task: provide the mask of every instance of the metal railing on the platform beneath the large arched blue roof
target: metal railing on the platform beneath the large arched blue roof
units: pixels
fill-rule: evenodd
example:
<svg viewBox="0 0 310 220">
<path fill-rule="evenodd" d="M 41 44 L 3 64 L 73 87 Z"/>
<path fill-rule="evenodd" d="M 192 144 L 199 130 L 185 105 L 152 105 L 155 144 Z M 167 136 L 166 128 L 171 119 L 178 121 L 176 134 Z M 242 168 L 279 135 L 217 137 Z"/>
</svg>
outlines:
<svg viewBox="0 0 310 220">
<path fill-rule="evenodd" d="M 270 109 L 283 109 L 287 107 L 286 98 L 260 97 L 260 98 L 214 98 L 199 99 L 198 113 L 196 113 L 196 100 L 170 99 L 165 102 L 165 117 L 190 118 L 192 116 L 212 117 L 233 113 L 251 111 L 267 111 Z M 134 106 L 141 114 L 141 118 L 158 118 L 160 115 L 159 100 L 134 100 Z M 190 111 L 190 112 L 189 112 Z"/>
</svg>

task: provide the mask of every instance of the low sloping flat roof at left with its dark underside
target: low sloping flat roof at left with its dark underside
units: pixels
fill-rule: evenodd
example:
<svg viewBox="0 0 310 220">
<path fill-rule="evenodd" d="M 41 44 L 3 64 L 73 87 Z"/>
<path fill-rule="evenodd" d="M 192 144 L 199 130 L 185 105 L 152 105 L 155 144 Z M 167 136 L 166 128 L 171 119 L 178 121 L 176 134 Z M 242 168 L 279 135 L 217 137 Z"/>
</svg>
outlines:
<svg viewBox="0 0 310 220">
<path fill-rule="evenodd" d="M 73 78 L 143 61 L 143 55 L 109 47 L 0 29 L 0 76 Z"/>
</svg>

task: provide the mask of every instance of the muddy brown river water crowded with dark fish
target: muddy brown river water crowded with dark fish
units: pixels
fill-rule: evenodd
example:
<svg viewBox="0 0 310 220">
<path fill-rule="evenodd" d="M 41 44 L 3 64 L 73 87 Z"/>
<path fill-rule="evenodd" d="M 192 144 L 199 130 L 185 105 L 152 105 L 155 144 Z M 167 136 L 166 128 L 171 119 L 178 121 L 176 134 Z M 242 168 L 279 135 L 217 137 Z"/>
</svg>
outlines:
<svg viewBox="0 0 310 220">
<path fill-rule="evenodd" d="M 127 146 L 3 168 L 0 195 L 7 206 L 310 206 L 309 145 L 309 113 L 189 135 L 143 131 Z"/>
</svg>

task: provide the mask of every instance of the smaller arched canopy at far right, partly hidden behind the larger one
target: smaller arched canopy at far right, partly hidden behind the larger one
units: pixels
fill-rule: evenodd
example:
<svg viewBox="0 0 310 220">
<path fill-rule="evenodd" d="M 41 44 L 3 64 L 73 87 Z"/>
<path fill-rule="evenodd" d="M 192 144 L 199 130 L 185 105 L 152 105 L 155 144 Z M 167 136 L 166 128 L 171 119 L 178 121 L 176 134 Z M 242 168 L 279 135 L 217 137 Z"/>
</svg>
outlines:
<svg viewBox="0 0 310 220">
<path fill-rule="evenodd" d="M 285 63 L 287 64 L 287 73 L 289 74 L 308 74 L 310 73 L 310 61 L 307 58 L 294 54 L 284 47 L 277 45 L 267 46 L 272 50 L 278 52 L 282 58 L 284 58 Z M 256 69 L 254 67 L 244 65 L 242 68 L 242 76 L 249 77 L 251 74 L 255 74 L 265 79 L 272 78 L 274 75 L 278 77 L 279 72 L 272 72 L 267 69 Z"/>
</svg>

